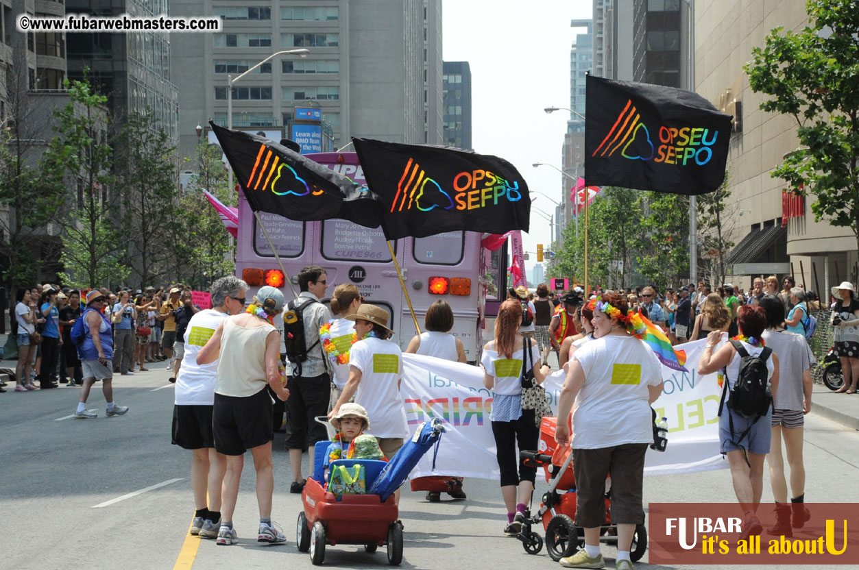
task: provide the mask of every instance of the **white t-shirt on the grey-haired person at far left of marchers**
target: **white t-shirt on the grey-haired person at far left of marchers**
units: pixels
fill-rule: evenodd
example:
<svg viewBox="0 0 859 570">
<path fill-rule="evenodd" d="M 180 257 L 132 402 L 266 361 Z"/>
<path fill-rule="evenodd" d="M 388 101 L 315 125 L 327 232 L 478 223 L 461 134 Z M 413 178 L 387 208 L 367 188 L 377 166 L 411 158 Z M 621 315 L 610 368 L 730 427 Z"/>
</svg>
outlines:
<svg viewBox="0 0 859 570">
<path fill-rule="evenodd" d="M 176 374 L 175 403 L 179 406 L 211 406 L 215 403 L 217 363 L 198 364 L 197 353 L 202 349 L 218 325 L 228 317 L 226 312 L 204 309 L 188 322 L 185 331 L 185 357 Z"/>
</svg>

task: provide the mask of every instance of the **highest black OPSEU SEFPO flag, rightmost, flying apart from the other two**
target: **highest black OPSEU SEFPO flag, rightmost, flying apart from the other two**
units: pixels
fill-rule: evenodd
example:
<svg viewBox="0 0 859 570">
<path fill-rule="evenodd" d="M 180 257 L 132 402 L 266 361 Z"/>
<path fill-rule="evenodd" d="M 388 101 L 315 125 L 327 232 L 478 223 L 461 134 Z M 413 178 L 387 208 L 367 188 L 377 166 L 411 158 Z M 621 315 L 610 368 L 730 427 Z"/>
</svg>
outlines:
<svg viewBox="0 0 859 570">
<path fill-rule="evenodd" d="M 704 97 L 588 76 L 585 108 L 588 185 L 697 195 L 722 184 L 731 117 Z"/>
</svg>

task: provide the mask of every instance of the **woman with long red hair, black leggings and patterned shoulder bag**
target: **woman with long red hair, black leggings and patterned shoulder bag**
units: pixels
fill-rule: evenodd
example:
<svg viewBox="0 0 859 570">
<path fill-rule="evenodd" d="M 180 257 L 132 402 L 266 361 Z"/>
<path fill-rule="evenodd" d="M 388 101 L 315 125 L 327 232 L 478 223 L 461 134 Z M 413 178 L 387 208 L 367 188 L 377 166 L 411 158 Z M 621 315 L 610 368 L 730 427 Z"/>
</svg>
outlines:
<svg viewBox="0 0 859 570">
<path fill-rule="evenodd" d="M 509 537 L 515 537 L 522 529 L 537 475 L 536 468 L 525 465 L 516 454 L 517 444 L 519 449 L 537 449 L 539 440 L 534 410 L 521 407 L 522 367 L 525 362 L 533 362 L 534 378 L 539 384 L 549 373 L 548 366 L 540 366 L 537 341 L 529 338 L 527 344 L 524 343 L 519 333 L 521 322 L 519 301 L 505 300 L 495 321 L 495 340 L 486 343 L 480 359 L 485 371 L 484 385 L 492 391 L 494 398 L 490 420 L 501 470 L 501 494 L 507 506 L 504 534 Z"/>
</svg>

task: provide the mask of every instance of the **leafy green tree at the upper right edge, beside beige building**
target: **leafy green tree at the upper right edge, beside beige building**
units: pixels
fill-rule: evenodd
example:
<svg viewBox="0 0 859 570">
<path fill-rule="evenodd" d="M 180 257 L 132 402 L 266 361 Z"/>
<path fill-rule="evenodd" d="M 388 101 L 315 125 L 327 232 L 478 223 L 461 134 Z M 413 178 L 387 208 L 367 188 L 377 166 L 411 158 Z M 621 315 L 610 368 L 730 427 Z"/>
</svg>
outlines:
<svg viewBox="0 0 859 570">
<path fill-rule="evenodd" d="M 777 27 L 745 66 L 760 108 L 793 117 L 801 149 L 773 169 L 816 198 L 815 221 L 850 227 L 859 249 L 859 9 L 855 0 L 809 0 L 810 24 Z"/>
</svg>

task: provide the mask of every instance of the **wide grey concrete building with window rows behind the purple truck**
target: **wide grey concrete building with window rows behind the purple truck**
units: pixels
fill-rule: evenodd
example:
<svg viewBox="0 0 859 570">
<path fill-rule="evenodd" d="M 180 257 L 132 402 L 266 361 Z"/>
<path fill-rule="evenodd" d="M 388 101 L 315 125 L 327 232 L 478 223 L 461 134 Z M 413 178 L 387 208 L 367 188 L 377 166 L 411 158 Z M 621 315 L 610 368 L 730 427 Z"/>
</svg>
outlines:
<svg viewBox="0 0 859 570">
<path fill-rule="evenodd" d="M 180 153 L 192 156 L 195 127 L 226 125 L 228 76 L 283 50 L 233 86 L 233 126 L 282 130 L 295 107 L 315 106 L 340 148 L 351 136 L 442 143 L 440 0 L 176 0 L 171 15 L 219 15 L 222 32 L 174 33 L 180 89 Z"/>
</svg>

